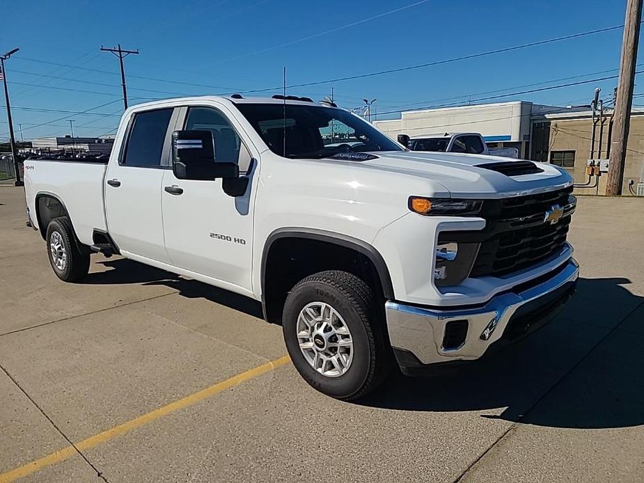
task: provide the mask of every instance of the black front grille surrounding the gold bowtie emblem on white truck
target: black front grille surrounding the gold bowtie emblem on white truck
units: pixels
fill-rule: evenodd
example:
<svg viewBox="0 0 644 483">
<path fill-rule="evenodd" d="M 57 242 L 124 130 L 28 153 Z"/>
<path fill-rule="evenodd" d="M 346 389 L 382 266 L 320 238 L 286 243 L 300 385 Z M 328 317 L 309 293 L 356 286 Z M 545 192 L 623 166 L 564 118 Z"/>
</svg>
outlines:
<svg viewBox="0 0 644 483">
<path fill-rule="evenodd" d="M 470 276 L 510 274 L 558 253 L 566 242 L 576 203 L 571 191 L 572 187 L 494 200 L 489 207 L 484 204 L 489 237 L 480 244 Z M 545 214 L 553 205 L 564 209 L 556 223 L 545 221 Z"/>
</svg>

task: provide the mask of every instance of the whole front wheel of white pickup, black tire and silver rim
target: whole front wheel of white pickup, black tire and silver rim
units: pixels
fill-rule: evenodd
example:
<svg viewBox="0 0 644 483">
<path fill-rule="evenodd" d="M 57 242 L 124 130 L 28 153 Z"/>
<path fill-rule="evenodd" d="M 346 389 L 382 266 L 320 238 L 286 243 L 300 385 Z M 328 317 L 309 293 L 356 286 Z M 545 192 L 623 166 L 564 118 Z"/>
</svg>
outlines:
<svg viewBox="0 0 644 483">
<path fill-rule="evenodd" d="M 299 374 L 321 393 L 359 399 L 389 367 L 383 324 L 371 288 L 345 271 L 301 280 L 283 312 L 286 348 Z"/>
</svg>

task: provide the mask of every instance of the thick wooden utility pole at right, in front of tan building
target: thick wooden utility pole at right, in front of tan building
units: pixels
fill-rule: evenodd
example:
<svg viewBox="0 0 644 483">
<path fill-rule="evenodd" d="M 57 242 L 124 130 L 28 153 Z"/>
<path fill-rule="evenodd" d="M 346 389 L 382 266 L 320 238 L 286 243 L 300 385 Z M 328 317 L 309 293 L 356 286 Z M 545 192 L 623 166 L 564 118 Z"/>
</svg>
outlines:
<svg viewBox="0 0 644 483">
<path fill-rule="evenodd" d="M 615 124 L 613 125 L 613 139 L 611 140 L 611 160 L 608 164 L 608 178 L 606 179 L 606 195 L 608 196 L 622 194 L 631 106 L 633 104 L 637 46 L 640 38 L 642 1 L 628 0 L 626 6 L 622 58 L 620 61 L 620 81 L 617 100 L 615 101 Z"/>
</svg>

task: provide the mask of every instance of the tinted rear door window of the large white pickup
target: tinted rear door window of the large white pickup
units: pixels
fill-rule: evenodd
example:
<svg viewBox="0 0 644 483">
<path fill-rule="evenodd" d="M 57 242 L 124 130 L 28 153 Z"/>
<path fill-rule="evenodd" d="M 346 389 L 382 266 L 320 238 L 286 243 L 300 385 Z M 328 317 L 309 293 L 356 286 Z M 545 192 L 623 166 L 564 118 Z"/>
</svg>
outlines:
<svg viewBox="0 0 644 483">
<path fill-rule="evenodd" d="M 121 164 L 158 168 L 173 109 L 134 114 Z"/>
</svg>

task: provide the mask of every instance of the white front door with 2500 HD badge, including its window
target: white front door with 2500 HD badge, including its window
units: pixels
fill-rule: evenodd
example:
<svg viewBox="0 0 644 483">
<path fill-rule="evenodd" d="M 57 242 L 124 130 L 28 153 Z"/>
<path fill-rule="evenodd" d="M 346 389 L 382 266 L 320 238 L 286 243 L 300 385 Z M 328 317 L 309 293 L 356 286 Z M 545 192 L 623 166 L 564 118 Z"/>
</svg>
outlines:
<svg viewBox="0 0 644 483">
<path fill-rule="evenodd" d="M 238 164 L 240 175 L 249 175 L 251 181 L 242 196 L 233 197 L 224 193 L 221 179 L 179 180 L 171 169 L 166 170 L 162 181 L 166 251 L 175 267 L 251 290 L 252 177 L 257 165 L 251 161 L 249 144 L 239 135 L 240 127 L 220 109 L 182 109 L 184 121 L 178 122 L 177 129 L 212 132 L 215 162 Z"/>
</svg>

